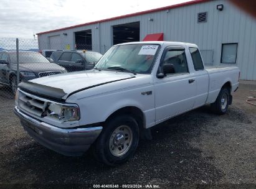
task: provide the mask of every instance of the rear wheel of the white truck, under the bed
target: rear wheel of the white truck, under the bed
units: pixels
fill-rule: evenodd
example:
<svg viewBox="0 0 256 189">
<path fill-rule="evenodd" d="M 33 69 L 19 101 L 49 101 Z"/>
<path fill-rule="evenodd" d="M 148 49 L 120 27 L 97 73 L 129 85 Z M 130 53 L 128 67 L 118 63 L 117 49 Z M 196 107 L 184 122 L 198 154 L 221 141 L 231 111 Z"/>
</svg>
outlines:
<svg viewBox="0 0 256 189">
<path fill-rule="evenodd" d="M 227 113 L 227 108 L 229 107 L 230 93 L 227 88 L 222 88 L 217 96 L 214 103 L 211 104 L 211 109 L 216 114 Z"/>
</svg>

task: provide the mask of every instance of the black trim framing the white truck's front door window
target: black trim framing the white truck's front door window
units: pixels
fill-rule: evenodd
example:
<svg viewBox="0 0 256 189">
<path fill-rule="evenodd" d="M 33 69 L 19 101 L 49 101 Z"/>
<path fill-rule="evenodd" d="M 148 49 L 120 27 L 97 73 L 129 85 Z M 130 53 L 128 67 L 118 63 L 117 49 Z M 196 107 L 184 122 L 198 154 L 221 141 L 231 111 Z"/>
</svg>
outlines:
<svg viewBox="0 0 256 189">
<path fill-rule="evenodd" d="M 170 49 L 173 49 L 173 50 L 184 50 L 185 58 L 186 58 L 186 62 L 187 62 L 187 55 L 186 55 L 186 48 L 185 47 L 183 47 L 183 46 L 174 46 L 174 45 L 165 47 L 164 51 L 162 53 L 162 56 L 160 58 L 160 63 L 159 63 L 159 66 L 158 66 L 158 71 L 156 71 L 156 75 L 158 75 L 159 70 L 161 70 L 161 67 L 163 66 L 163 62 L 164 62 L 164 57 L 165 57 L 166 53 Z M 188 64 L 187 64 L 187 72 L 184 72 L 184 73 L 170 73 L 170 74 L 166 75 L 166 77 L 168 77 L 168 76 L 178 76 L 178 75 L 187 75 L 187 74 L 190 74 L 190 70 L 189 70 L 189 65 Z"/>
</svg>

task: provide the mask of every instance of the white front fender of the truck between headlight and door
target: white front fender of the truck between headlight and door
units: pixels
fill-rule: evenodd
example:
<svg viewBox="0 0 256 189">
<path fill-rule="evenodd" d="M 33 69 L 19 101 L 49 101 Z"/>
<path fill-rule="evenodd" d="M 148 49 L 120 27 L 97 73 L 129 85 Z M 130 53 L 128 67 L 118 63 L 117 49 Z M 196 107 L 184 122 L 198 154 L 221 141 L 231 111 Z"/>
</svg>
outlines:
<svg viewBox="0 0 256 189">
<path fill-rule="evenodd" d="M 78 99 L 80 125 L 105 122 L 118 109 L 133 106 L 143 112 L 146 127 L 151 126 L 155 119 L 154 91 L 150 95 L 141 94 L 143 91 L 153 91 L 153 85 Z"/>
</svg>

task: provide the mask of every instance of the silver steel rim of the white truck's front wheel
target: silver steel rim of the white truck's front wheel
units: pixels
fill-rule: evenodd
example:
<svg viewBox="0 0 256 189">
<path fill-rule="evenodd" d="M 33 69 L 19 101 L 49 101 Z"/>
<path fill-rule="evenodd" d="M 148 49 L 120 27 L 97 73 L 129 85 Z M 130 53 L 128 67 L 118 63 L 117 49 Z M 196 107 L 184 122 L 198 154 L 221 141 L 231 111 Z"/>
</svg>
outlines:
<svg viewBox="0 0 256 189">
<path fill-rule="evenodd" d="M 109 149 L 112 155 L 120 157 L 126 154 L 131 147 L 133 133 L 128 126 L 119 126 L 110 136 Z"/>
</svg>

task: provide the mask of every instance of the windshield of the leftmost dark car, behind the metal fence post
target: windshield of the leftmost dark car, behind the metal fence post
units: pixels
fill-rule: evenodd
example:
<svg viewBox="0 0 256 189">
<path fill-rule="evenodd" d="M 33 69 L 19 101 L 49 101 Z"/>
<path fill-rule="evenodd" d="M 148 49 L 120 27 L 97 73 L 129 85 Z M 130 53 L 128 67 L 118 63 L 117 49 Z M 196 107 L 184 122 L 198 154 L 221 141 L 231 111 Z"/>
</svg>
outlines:
<svg viewBox="0 0 256 189">
<path fill-rule="evenodd" d="M 17 63 L 16 53 L 10 53 L 11 63 Z M 49 60 L 38 52 L 19 52 L 19 63 L 49 63 Z"/>
</svg>

